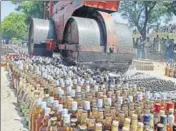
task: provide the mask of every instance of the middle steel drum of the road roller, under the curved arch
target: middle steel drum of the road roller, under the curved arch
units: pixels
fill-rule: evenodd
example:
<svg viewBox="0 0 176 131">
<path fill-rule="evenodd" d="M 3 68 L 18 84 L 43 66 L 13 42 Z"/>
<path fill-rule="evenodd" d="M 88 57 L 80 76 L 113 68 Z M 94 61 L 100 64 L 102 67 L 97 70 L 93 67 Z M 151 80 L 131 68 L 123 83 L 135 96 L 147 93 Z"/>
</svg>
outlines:
<svg viewBox="0 0 176 131">
<path fill-rule="evenodd" d="M 100 46 L 99 25 L 94 19 L 72 17 L 68 21 L 64 39 L 70 44 Z"/>
</svg>

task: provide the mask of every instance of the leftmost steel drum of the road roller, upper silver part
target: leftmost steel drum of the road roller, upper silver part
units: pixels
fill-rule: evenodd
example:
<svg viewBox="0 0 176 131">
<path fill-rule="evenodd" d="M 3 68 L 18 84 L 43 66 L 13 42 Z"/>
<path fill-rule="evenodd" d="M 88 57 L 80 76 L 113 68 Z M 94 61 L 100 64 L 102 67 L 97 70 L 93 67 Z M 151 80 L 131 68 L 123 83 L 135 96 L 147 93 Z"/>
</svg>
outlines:
<svg viewBox="0 0 176 131">
<path fill-rule="evenodd" d="M 51 20 L 32 18 L 29 29 L 29 51 L 33 51 L 34 44 L 45 42 L 46 39 L 54 39 L 55 30 Z"/>
</svg>

